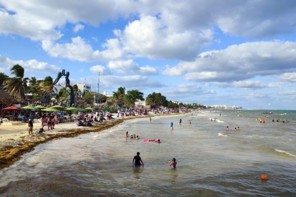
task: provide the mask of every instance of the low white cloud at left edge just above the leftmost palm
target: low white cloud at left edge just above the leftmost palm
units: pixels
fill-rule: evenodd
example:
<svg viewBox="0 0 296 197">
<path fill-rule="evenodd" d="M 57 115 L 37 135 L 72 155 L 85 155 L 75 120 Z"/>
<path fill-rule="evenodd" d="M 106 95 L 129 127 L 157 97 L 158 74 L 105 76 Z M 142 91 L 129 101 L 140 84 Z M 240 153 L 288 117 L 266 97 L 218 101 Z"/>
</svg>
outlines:
<svg viewBox="0 0 296 197">
<path fill-rule="evenodd" d="M 0 64 L 6 65 L 9 68 L 13 65 L 19 64 L 20 66 L 23 66 L 26 72 L 33 72 L 33 71 L 42 71 L 42 72 L 52 72 L 56 73 L 57 70 L 60 70 L 61 68 L 55 65 L 50 65 L 46 62 L 38 62 L 37 60 L 11 60 L 7 57 L 3 57 L 0 55 Z"/>
</svg>

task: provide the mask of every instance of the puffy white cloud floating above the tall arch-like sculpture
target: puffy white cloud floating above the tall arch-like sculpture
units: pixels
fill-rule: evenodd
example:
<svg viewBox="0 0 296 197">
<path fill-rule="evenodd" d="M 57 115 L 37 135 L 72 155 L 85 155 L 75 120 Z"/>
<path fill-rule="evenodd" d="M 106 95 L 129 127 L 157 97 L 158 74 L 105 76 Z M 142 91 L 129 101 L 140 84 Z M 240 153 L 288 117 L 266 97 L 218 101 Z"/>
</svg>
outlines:
<svg viewBox="0 0 296 197">
<path fill-rule="evenodd" d="M 103 44 L 106 50 L 93 50 L 80 36 L 73 37 L 71 43 L 55 43 L 42 40 L 42 48 L 52 57 L 63 57 L 79 62 L 106 61 L 120 58 L 122 51 L 118 39 L 109 39 Z"/>
</svg>

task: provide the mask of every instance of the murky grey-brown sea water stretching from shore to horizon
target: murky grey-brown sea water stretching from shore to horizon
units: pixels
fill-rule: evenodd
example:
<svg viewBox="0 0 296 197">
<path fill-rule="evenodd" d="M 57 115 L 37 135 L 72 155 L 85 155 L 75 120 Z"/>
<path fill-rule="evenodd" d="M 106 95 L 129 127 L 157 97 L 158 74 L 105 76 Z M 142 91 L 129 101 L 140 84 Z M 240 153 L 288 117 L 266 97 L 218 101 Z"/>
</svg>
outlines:
<svg viewBox="0 0 296 197">
<path fill-rule="evenodd" d="M 296 111 L 262 112 L 142 118 L 53 140 L 0 171 L 0 196 L 296 196 Z M 126 131 L 141 139 L 125 139 Z M 132 165 L 138 151 L 144 167 Z M 168 166 L 173 158 L 176 169 Z"/>
</svg>

